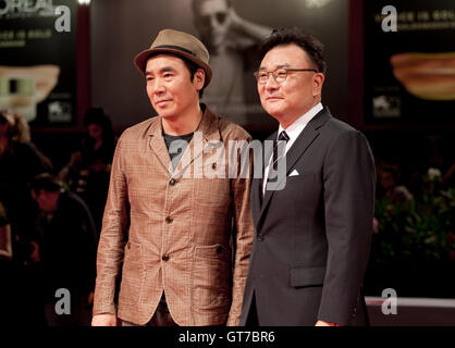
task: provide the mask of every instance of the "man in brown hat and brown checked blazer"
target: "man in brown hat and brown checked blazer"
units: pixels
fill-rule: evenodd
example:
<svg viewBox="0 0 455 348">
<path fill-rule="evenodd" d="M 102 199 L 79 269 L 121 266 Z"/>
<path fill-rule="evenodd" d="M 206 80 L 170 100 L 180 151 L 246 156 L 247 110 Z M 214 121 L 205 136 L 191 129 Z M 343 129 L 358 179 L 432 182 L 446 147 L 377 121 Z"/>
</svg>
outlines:
<svg viewBox="0 0 455 348">
<path fill-rule="evenodd" d="M 115 149 L 93 325 L 239 323 L 253 244 L 250 179 L 228 175 L 232 153 L 219 148 L 250 137 L 199 103 L 208 62 L 198 39 L 172 29 L 135 58 L 158 116 L 127 128 Z"/>
</svg>

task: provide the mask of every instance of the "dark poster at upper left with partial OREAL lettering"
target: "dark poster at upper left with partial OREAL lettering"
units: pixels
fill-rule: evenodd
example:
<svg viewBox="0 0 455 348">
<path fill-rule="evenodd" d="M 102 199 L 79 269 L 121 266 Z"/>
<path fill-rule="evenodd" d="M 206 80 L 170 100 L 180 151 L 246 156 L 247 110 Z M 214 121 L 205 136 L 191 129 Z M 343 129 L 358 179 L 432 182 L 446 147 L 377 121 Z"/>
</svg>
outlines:
<svg viewBox="0 0 455 348">
<path fill-rule="evenodd" d="M 30 125 L 75 124 L 76 11 L 76 0 L 0 0 L 0 109 Z"/>
</svg>

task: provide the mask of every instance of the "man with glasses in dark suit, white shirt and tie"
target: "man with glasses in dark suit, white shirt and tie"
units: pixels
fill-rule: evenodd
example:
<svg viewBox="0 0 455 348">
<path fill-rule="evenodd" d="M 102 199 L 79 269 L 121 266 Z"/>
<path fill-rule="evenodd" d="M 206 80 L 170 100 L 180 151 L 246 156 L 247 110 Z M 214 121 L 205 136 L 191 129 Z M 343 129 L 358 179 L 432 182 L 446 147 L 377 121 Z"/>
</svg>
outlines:
<svg viewBox="0 0 455 348">
<path fill-rule="evenodd" d="M 282 141 L 251 185 L 256 238 L 241 324 L 364 325 L 376 185 L 370 147 L 321 104 L 327 65 L 318 39 L 298 28 L 274 30 L 261 57 L 259 97 L 280 122 L 268 140 Z"/>
</svg>

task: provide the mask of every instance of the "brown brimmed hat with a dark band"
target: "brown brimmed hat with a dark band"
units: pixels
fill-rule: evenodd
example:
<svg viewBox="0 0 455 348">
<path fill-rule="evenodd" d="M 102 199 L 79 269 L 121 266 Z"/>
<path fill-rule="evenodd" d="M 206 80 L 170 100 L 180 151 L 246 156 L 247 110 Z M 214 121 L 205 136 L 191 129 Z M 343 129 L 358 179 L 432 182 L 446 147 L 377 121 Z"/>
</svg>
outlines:
<svg viewBox="0 0 455 348">
<path fill-rule="evenodd" d="M 209 51 L 204 44 L 193 35 L 173 29 L 163 29 L 158 33 L 157 38 L 148 50 L 142 51 L 136 55 L 134 64 L 144 74 L 147 60 L 150 55 L 159 53 L 173 53 L 190 60 L 206 72 L 206 82 L 204 86 L 207 86 L 210 83 L 212 72 L 209 66 Z"/>
</svg>

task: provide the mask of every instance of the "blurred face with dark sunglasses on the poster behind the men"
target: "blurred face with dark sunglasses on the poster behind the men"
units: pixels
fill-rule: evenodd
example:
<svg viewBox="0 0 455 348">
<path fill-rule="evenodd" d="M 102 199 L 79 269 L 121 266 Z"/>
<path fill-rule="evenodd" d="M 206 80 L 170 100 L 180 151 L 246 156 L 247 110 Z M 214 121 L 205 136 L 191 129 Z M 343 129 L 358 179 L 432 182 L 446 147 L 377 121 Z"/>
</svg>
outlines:
<svg viewBox="0 0 455 348">
<path fill-rule="evenodd" d="M 230 29 L 230 4 L 226 0 L 193 0 L 195 26 L 210 48 L 223 46 Z"/>
</svg>

